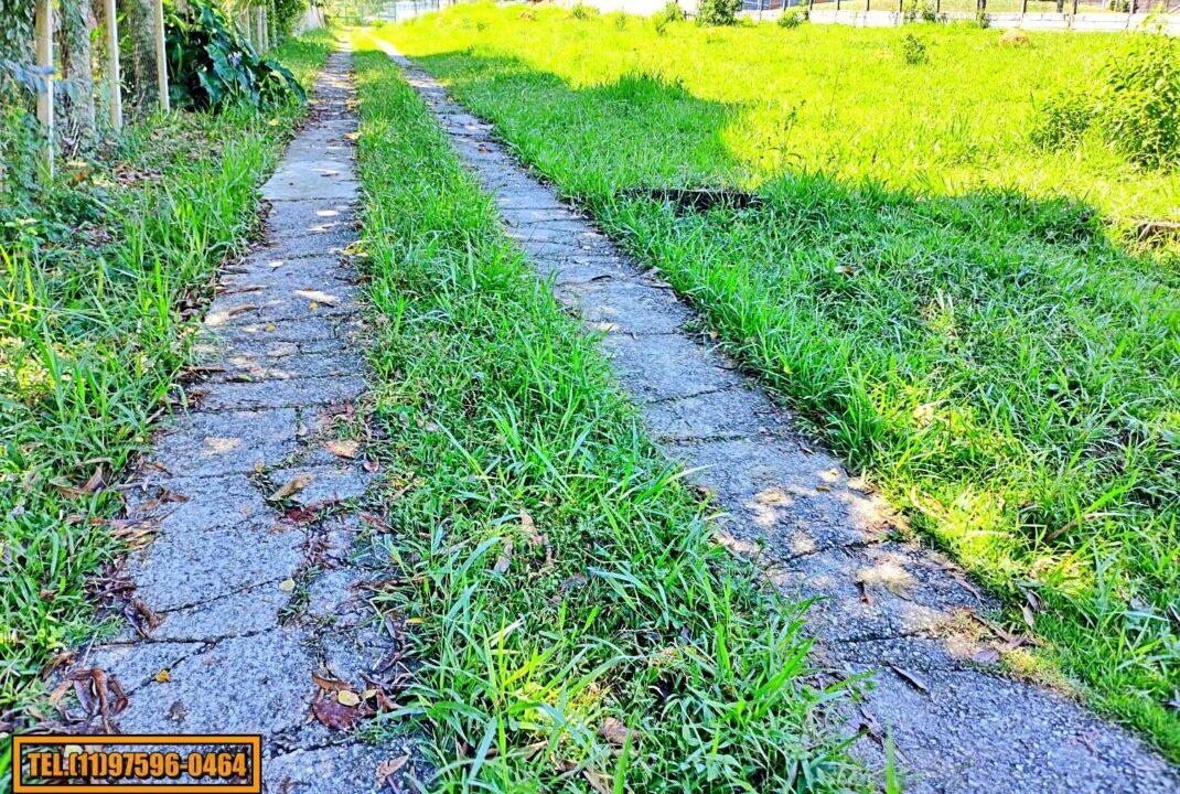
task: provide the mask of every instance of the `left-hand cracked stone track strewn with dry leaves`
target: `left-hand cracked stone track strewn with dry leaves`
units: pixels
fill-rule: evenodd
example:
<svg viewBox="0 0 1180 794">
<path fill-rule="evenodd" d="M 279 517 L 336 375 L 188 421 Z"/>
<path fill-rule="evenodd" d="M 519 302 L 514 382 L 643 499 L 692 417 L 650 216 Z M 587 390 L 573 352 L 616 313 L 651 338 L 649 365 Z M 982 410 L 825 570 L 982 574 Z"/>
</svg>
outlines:
<svg viewBox="0 0 1180 794">
<path fill-rule="evenodd" d="M 78 665 L 122 683 L 122 733 L 261 734 L 266 788 L 284 794 L 417 790 L 408 777 L 424 774 L 408 746 L 327 727 L 360 716 L 336 687 L 381 689 L 398 672 L 356 586 L 373 578 L 353 549 L 369 475 L 334 444 L 365 388 L 341 261 L 359 190 L 349 65 L 334 53 L 319 77 L 262 191 L 264 247 L 224 271 L 205 317 L 208 378 L 127 491 L 130 518 L 156 530 L 127 571 L 138 628 Z"/>
</svg>

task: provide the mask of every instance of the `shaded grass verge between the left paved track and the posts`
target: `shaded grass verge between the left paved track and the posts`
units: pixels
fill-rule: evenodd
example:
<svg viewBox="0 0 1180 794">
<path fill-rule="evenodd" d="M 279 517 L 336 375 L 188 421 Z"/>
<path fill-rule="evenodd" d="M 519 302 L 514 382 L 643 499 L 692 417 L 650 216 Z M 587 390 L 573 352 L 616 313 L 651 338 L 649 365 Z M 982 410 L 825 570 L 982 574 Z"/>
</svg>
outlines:
<svg viewBox="0 0 1180 794">
<path fill-rule="evenodd" d="M 330 45 L 320 33 L 277 54 L 307 84 Z M 168 409 L 217 265 L 254 230 L 257 186 L 302 113 L 156 118 L 61 165 L 27 217 L 6 208 L 0 734 L 52 718 L 42 669 L 93 634 L 104 601 L 87 577 L 149 529 L 116 518 L 110 486 Z"/>
</svg>

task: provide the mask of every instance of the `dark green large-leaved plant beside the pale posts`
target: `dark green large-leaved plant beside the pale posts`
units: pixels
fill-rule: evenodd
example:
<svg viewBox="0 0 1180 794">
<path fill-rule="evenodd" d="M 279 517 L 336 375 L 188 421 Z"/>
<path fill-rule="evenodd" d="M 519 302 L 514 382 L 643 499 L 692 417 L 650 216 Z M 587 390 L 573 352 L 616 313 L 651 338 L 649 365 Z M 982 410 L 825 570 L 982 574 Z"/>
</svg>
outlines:
<svg viewBox="0 0 1180 794">
<path fill-rule="evenodd" d="M 307 98 L 290 71 L 262 58 L 210 0 L 168 9 L 168 54 L 172 104 L 221 110 L 235 104 L 264 107 Z"/>
</svg>

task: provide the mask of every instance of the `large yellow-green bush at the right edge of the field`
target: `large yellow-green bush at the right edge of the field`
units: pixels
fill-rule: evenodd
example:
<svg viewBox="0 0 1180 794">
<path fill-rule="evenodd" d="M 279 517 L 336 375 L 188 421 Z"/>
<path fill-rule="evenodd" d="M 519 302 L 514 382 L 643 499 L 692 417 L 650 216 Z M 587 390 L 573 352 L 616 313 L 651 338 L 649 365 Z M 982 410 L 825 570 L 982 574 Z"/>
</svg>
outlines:
<svg viewBox="0 0 1180 794">
<path fill-rule="evenodd" d="M 1180 164 L 1180 40 L 1138 34 L 1110 59 L 1096 109 L 1107 140 L 1147 168 Z"/>
</svg>

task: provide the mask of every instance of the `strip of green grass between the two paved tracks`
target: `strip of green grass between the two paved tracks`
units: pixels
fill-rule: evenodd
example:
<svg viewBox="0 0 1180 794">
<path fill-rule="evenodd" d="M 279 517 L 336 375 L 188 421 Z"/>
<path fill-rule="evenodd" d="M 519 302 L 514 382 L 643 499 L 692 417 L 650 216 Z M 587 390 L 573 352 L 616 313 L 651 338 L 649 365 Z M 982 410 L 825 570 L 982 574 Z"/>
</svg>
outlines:
<svg viewBox="0 0 1180 794">
<path fill-rule="evenodd" d="M 439 792 L 859 786 L 800 608 L 713 543 L 396 67 L 368 52 L 356 68 L 396 527 L 376 603 L 415 664 L 387 729 L 411 715 L 426 733 Z"/>
</svg>

